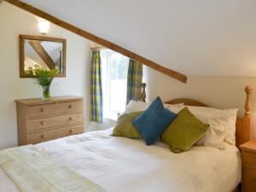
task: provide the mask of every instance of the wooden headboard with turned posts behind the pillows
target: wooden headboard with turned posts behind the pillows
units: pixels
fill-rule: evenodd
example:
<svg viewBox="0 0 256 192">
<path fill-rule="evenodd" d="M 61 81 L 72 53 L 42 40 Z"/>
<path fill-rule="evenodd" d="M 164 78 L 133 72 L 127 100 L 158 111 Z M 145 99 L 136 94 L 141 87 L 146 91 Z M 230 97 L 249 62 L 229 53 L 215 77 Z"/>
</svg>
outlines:
<svg viewBox="0 0 256 192">
<path fill-rule="evenodd" d="M 145 93 L 146 84 L 142 84 L 142 101 L 145 102 L 146 93 Z M 252 111 L 252 95 L 253 88 L 247 86 L 245 88 L 246 92 L 246 102 L 245 102 L 245 113 L 242 117 L 236 118 L 236 146 L 239 147 L 242 143 L 247 143 L 253 138 L 253 111 Z M 195 101 L 189 98 L 177 98 L 173 99 L 167 104 L 177 104 L 184 103 L 189 106 L 201 106 L 209 107 L 205 103 Z"/>
</svg>

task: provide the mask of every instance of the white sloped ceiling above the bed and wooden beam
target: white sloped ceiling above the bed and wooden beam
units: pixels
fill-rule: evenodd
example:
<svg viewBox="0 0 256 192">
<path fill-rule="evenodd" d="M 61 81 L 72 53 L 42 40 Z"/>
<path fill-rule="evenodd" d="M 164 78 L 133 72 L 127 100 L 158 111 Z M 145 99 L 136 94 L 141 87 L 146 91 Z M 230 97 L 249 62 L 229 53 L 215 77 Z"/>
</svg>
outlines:
<svg viewBox="0 0 256 192">
<path fill-rule="evenodd" d="M 256 75 L 254 0 L 23 0 L 186 75 Z"/>
</svg>

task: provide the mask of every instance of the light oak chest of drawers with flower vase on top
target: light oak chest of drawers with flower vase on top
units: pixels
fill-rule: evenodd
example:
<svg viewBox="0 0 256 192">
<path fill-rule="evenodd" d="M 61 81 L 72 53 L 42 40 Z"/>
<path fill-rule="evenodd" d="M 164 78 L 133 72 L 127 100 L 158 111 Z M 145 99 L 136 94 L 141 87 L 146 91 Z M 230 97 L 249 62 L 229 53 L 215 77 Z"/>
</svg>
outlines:
<svg viewBox="0 0 256 192">
<path fill-rule="evenodd" d="M 57 96 L 50 100 L 16 100 L 18 143 L 41 143 L 84 132 L 83 98 Z"/>
</svg>

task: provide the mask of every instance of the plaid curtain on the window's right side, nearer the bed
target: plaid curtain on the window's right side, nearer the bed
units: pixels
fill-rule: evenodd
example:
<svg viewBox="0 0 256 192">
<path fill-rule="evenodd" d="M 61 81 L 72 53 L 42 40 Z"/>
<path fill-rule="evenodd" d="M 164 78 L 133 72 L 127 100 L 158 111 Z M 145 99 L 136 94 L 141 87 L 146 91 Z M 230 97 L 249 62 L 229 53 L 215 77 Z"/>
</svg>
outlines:
<svg viewBox="0 0 256 192">
<path fill-rule="evenodd" d="M 134 60 L 129 61 L 127 75 L 126 103 L 140 100 L 142 96 L 143 64 Z"/>
</svg>

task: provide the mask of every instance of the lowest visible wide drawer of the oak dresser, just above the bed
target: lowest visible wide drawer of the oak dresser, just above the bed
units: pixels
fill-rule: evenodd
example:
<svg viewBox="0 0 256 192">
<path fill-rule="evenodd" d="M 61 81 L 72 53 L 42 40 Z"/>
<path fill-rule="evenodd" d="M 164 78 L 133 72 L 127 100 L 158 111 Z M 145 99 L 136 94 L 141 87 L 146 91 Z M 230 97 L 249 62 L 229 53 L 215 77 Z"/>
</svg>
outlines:
<svg viewBox="0 0 256 192">
<path fill-rule="evenodd" d="M 81 133 L 84 133 L 83 125 L 74 125 L 74 126 L 64 127 L 64 128 L 55 129 L 55 130 L 49 130 L 49 131 L 38 131 L 38 132 L 28 134 L 27 143 L 28 144 L 41 143 L 41 142 L 46 142 L 49 140 L 81 134 Z"/>
</svg>

